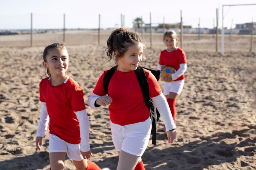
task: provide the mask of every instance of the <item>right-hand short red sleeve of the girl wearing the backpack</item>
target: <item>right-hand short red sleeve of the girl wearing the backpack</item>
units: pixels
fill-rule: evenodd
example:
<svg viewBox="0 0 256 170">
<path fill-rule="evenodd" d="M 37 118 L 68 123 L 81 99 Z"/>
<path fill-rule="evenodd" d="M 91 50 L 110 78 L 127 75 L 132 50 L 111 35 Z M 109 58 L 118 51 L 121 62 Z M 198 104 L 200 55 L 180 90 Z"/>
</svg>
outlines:
<svg viewBox="0 0 256 170">
<path fill-rule="evenodd" d="M 156 97 L 162 93 L 162 90 L 157 82 L 155 76 L 148 70 L 145 70 L 147 79 L 148 79 L 148 87 L 149 87 L 149 96 L 150 98 Z"/>
</svg>

